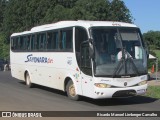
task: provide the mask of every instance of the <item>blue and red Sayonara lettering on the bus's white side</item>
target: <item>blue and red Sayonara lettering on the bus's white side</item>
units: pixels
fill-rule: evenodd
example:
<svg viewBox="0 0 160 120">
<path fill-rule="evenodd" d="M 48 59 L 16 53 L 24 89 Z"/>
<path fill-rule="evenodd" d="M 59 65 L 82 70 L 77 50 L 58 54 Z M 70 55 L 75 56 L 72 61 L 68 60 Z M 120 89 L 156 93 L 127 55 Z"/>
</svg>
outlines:
<svg viewBox="0 0 160 120">
<path fill-rule="evenodd" d="M 48 57 L 34 57 L 32 54 L 27 56 L 27 60 L 25 62 L 32 63 L 53 63 L 53 59 Z"/>
</svg>

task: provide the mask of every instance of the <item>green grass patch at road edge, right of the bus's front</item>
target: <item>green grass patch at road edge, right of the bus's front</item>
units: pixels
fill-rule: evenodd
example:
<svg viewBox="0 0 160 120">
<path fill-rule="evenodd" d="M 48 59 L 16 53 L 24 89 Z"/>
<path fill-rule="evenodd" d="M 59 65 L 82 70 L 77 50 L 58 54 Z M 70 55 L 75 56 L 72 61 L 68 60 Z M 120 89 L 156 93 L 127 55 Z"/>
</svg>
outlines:
<svg viewBox="0 0 160 120">
<path fill-rule="evenodd" d="M 160 86 L 149 86 L 145 96 L 160 99 Z"/>
</svg>

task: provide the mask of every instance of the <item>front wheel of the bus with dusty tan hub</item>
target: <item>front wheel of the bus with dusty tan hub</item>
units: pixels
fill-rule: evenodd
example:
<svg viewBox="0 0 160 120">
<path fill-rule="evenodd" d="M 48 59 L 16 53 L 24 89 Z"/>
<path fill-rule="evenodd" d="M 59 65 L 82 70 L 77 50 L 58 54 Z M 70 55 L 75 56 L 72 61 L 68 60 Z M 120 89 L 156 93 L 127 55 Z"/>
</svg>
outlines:
<svg viewBox="0 0 160 120">
<path fill-rule="evenodd" d="M 68 95 L 68 97 L 70 99 L 72 99 L 72 100 L 79 100 L 79 95 L 76 94 L 75 86 L 74 86 L 72 80 L 70 80 L 67 83 L 66 91 L 67 91 L 67 95 Z"/>
</svg>

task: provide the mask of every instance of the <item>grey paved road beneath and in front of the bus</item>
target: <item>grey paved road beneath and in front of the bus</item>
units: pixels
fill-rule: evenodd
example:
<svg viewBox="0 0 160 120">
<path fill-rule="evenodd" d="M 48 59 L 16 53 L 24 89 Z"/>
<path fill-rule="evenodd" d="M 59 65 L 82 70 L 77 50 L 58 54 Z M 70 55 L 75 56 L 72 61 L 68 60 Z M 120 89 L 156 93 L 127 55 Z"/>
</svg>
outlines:
<svg viewBox="0 0 160 120">
<path fill-rule="evenodd" d="M 12 78 L 10 72 L 0 72 L 0 111 L 159 110 L 160 100 L 142 96 L 105 100 L 82 98 L 81 101 L 72 101 L 61 91 L 38 85 L 34 88 L 28 88 L 24 82 Z M 125 118 L 123 118 L 123 120 L 124 119 Z M 126 120 L 127 119 L 128 118 L 126 118 Z M 120 120 L 120 118 L 118 118 L 118 120 Z M 150 120 L 150 118 L 148 118 L 148 120 Z"/>
</svg>

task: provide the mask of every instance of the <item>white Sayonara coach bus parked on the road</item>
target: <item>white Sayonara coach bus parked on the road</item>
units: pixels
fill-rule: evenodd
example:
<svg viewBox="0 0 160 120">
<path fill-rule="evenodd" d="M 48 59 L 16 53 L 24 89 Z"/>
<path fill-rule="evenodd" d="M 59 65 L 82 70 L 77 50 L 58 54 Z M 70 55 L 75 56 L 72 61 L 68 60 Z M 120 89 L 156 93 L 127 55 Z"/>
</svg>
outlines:
<svg viewBox="0 0 160 120">
<path fill-rule="evenodd" d="M 70 99 L 129 97 L 147 90 L 147 52 L 136 25 L 61 21 L 11 35 L 11 74 Z"/>
</svg>

